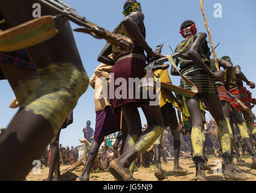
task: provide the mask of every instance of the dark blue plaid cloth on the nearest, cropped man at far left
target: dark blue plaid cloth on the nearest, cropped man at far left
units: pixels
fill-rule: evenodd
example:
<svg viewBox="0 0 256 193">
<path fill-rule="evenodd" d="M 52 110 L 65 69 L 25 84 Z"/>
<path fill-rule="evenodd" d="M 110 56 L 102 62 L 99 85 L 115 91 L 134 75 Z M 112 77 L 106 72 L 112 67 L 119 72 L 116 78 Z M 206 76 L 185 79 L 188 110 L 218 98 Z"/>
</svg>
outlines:
<svg viewBox="0 0 256 193">
<path fill-rule="evenodd" d="M 9 27 L 6 23 L 0 24 L 0 30 L 7 30 Z M 0 52 L 0 62 L 7 65 L 15 65 L 21 68 L 35 70 L 36 67 L 30 60 L 27 52 L 24 49 L 13 52 Z M 0 69 L 0 80 L 6 79 Z"/>
</svg>

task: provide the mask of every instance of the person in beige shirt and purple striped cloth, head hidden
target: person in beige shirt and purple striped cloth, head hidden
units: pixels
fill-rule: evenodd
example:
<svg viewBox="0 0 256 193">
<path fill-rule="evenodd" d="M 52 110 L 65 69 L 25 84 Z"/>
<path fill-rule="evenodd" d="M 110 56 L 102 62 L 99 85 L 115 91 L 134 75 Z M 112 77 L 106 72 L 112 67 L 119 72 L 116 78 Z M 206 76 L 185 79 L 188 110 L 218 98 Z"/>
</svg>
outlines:
<svg viewBox="0 0 256 193">
<path fill-rule="evenodd" d="M 107 97 L 108 95 L 105 93 L 106 90 L 109 90 L 110 72 L 112 71 L 112 68 L 112 65 L 101 63 L 97 66 L 89 81 L 91 87 L 94 89 L 94 104 L 96 113 L 94 140 L 92 141 L 92 145 L 89 149 L 85 168 L 83 169 L 82 174 L 77 177 L 76 181 L 89 181 L 92 165 L 98 154 L 98 150 L 104 141 L 104 137 L 120 131 L 121 127 L 124 133 L 124 141 L 122 143 L 121 152 L 123 152 L 124 149 L 124 144 L 126 141 L 125 121 L 123 119 L 121 125 L 121 111 L 116 113 L 112 112 L 110 109 L 109 98 Z"/>
</svg>

